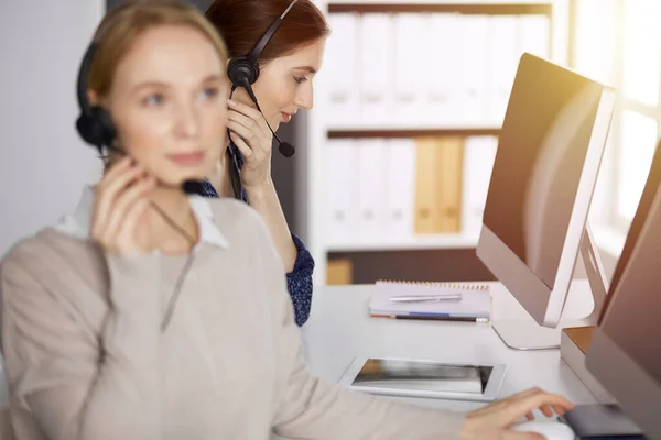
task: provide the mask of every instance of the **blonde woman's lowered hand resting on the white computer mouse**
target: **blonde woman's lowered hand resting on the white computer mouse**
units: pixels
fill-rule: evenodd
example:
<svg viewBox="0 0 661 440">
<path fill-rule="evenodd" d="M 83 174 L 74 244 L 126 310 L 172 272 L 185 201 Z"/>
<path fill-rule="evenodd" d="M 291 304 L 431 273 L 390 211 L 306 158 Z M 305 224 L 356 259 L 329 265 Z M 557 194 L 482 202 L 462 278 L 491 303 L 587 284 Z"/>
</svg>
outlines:
<svg viewBox="0 0 661 440">
<path fill-rule="evenodd" d="M 468 413 L 460 438 L 466 440 L 543 440 L 540 435 L 514 432 L 509 428 L 521 417 L 532 420 L 534 418 L 532 411 L 535 409 L 540 409 L 546 417 L 552 417 L 553 413 L 561 416 L 573 407 L 572 403 L 562 396 L 532 388 Z"/>
</svg>

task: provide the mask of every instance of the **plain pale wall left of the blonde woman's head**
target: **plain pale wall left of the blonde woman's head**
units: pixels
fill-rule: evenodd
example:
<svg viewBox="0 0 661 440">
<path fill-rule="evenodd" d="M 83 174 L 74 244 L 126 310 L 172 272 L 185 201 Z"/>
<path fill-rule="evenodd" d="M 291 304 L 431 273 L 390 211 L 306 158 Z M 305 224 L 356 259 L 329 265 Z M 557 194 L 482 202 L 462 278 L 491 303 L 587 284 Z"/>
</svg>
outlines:
<svg viewBox="0 0 661 440">
<path fill-rule="evenodd" d="M 104 0 L 0 0 L 0 257 L 100 172 L 78 138 L 78 64 Z"/>
</svg>

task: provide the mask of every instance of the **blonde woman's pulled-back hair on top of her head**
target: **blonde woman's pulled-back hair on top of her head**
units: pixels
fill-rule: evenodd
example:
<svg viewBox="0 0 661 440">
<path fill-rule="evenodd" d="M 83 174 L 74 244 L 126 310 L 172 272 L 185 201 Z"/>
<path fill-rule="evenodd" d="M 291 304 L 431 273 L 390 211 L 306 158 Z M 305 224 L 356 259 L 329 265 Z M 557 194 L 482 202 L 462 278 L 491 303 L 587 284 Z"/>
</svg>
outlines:
<svg viewBox="0 0 661 440">
<path fill-rule="evenodd" d="M 94 35 L 97 48 L 86 78 L 88 89 L 98 97 L 107 95 L 117 67 L 133 42 L 145 31 L 161 25 L 182 25 L 201 32 L 216 48 L 223 67 L 227 65 L 225 42 L 195 8 L 176 1 L 132 1 L 110 11 L 99 23 Z"/>
</svg>

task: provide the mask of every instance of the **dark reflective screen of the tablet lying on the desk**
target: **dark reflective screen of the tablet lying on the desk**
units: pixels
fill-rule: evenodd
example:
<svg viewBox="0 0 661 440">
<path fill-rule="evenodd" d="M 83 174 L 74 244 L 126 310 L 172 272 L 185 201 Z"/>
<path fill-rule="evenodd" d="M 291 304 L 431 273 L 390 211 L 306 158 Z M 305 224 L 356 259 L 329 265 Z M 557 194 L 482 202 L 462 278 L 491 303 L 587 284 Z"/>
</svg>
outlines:
<svg viewBox="0 0 661 440">
<path fill-rule="evenodd" d="M 354 386 L 483 394 L 492 366 L 369 359 Z"/>
</svg>

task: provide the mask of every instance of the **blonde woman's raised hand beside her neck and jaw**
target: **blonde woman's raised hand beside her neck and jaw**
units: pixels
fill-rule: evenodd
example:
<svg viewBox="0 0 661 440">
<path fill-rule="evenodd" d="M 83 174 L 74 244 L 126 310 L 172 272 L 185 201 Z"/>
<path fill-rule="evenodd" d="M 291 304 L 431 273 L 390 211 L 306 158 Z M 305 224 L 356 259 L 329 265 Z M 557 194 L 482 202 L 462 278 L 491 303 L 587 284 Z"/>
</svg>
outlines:
<svg viewBox="0 0 661 440">
<path fill-rule="evenodd" d="M 150 250 L 147 208 L 154 179 L 122 157 L 95 188 L 91 238 L 108 253 L 132 256 Z"/>
</svg>

